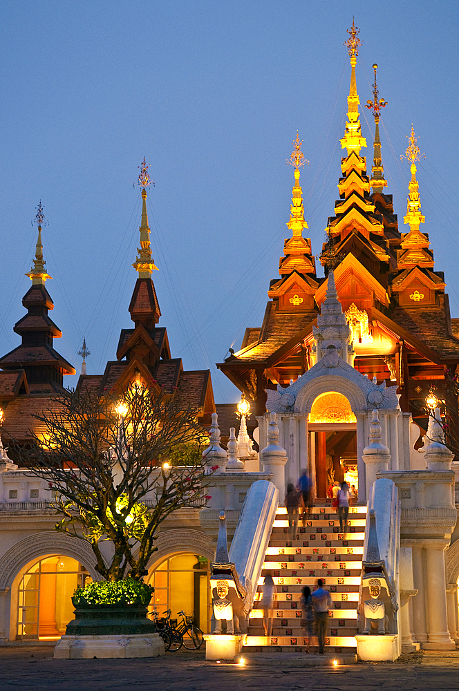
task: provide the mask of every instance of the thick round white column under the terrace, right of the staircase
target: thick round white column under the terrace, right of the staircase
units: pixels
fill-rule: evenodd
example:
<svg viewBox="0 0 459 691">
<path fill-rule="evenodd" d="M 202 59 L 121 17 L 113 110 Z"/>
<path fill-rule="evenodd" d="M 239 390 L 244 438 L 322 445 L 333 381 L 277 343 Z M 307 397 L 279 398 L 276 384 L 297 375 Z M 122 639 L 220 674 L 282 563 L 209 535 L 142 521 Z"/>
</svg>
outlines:
<svg viewBox="0 0 459 691">
<path fill-rule="evenodd" d="M 444 577 L 444 545 L 427 545 L 427 589 L 429 598 L 429 638 L 426 650 L 456 650 L 448 631 L 447 594 Z"/>
</svg>

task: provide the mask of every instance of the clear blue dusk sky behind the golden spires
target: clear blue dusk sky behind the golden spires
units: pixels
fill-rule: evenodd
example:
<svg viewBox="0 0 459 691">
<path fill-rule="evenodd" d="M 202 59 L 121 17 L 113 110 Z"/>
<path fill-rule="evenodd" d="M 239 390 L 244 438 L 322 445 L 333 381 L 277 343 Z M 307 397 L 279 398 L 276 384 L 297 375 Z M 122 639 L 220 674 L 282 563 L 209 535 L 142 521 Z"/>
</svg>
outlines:
<svg viewBox="0 0 459 691">
<path fill-rule="evenodd" d="M 3 0 L 0 99 L 0 351 L 19 345 L 41 200 L 55 348 L 77 371 L 115 359 L 135 284 L 143 156 L 154 272 L 172 357 L 212 370 L 217 402 L 238 391 L 216 370 L 246 326 L 263 320 L 290 235 L 299 130 L 313 252 L 321 251 L 340 174 L 355 15 L 361 104 L 377 62 L 387 191 L 404 231 L 414 124 L 422 212 L 459 316 L 458 15 L 440 0 L 311 2 Z M 362 108 L 361 108 L 362 113 Z M 362 113 L 367 167 L 373 119 Z M 319 275 L 323 271 L 319 266 Z M 75 386 L 76 377 L 66 383 Z"/>
</svg>

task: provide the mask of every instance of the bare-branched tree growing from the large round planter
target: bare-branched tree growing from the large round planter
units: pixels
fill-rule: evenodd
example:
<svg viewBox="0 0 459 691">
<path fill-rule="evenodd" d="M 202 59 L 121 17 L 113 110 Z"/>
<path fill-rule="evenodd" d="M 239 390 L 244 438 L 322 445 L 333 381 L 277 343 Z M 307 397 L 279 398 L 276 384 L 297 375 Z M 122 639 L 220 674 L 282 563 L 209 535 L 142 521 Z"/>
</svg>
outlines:
<svg viewBox="0 0 459 691">
<path fill-rule="evenodd" d="M 52 506 L 62 516 L 56 529 L 89 542 L 100 575 L 140 580 L 160 523 L 208 498 L 202 458 L 185 468 L 165 462 L 178 444 L 206 439 L 197 415 L 174 396 L 138 385 L 118 400 L 66 390 L 33 416 L 44 431 L 30 433 L 32 444 L 12 439 L 9 446 L 21 464 L 48 480 Z M 100 549 L 105 540 L 113 545 L 107 563 Z"/>
</svg>

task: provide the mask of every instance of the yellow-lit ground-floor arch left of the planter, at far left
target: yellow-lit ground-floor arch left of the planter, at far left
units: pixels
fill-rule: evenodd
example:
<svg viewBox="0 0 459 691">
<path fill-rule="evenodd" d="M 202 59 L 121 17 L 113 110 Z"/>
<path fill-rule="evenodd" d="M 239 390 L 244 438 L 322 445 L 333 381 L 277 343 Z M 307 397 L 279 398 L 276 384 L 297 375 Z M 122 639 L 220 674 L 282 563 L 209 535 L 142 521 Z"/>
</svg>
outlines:
<svg viewBox="0 0 459 691">
<path fill-rule="evenodd" d="M 29 562 L 17 574 L 12 589 L 12 604 L 13 596 L 17 596 L 11 611 L 17 640 L 60 638 L 73 619 L 71 598 L 75 589 L 91 580 L 86 567 L 63 554 Z"/>
</svg>

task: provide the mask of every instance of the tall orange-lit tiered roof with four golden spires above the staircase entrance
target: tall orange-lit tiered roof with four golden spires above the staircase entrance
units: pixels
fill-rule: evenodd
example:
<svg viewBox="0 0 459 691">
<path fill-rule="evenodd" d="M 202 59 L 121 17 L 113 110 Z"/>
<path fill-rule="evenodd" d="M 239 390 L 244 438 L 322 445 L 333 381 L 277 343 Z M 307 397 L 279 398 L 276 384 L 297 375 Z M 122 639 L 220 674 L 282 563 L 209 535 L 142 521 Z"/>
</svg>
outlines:
<svg viewBox="0 0 459 691">
<path fill-rule="evenodd" d="M 366 158 L 360 155 L 366 142 L 359 119 L 355 66 L 360 42 L 354 24 L 349 34 L 348 118 L 341 139 L 347 155 L 341 159 L 339 200 L 335 215 L 328 218 L 320 255 L 326 278 L 315 274 L 310 240 L 302 237 L 307 225 L 297 166 L 288 224 L 294 234 L 285 240 L 281 279 L 270 283 L 263 325 L 247 328 L 241 350 L 218 364 L 256 401 L 257 415 L 265 412 L 265 389 L 287 386 L 314 363 L 313 328 L 330 269 L 334 269 L 339 301 L 353 332 L 355 368 L 379 381 L 386 379 L 388 385 L 397 381 L 403 410 L 412 410 L 418 417 L 416 406 L 424 404 L 431 385 L 442 395 L 445 366 L 454 369 L 459 364 L 459 320 L 451 321 L 444 276 L 435 272 L 429 236 L 420 231 L 424 216 L 415 164 L 421 154 L 414 131 L 404 157 L 411 166 L 404 217 L 410 230 L 400 234 L 392 195 L 384 191 L 379 123 L 386 102 L 378 96 L 376 65 L 373 99 L 367 102 L 375 118 L 371 178 Z M 297 255 L 291 249 L 295 247 Z"/>
</svg>

